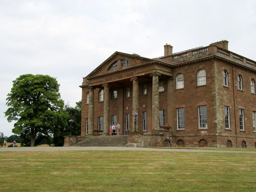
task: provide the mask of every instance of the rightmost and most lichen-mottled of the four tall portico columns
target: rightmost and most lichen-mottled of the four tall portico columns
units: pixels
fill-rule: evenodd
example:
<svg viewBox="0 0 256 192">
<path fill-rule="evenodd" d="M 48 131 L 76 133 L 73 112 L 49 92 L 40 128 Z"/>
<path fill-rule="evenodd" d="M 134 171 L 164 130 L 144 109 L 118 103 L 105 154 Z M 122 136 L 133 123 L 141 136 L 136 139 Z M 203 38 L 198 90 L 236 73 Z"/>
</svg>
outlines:
<svg viewBox="0 0 256 192">
<path fill-rule="evenodd" d="M 160 73 L 152 73 L 152 132 L 160 132 L 159 127 L 159 84 Z"/>
</svg>

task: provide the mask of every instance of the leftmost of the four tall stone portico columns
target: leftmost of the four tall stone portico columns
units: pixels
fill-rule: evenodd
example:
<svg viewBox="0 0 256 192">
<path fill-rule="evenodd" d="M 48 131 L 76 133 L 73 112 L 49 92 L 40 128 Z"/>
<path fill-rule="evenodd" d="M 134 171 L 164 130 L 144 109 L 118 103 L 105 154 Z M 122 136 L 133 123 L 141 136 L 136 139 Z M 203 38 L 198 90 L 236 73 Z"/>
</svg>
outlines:
<svg viewBox="0 0 256 192">
<path fill-rule="evenodd" d="M 95 87 L 88 87 L 89 89 L 89 109 L 88 109 L 88 135 L 94 135 L 94 89 Z"/>
</svg>

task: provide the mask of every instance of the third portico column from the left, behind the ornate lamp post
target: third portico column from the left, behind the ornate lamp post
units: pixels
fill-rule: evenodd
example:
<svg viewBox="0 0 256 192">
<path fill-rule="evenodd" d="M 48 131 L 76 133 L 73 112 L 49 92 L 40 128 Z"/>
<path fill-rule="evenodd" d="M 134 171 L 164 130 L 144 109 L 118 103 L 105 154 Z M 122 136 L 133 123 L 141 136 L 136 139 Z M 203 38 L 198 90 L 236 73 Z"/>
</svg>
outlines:
<svg viewBox="0 0 256 192">
<path fill-rule="evenodd" d="M 137 112 L 139 114 L 139 78 L 132 77 L 132 113 Z M 139 114 L 140 115 L 140 114 Z M 136 132 L 139 132 L 139 115 L 136 117 Z M 132 132 L 134 132 L 135 117 L 132 116 Z"/>
</svg>

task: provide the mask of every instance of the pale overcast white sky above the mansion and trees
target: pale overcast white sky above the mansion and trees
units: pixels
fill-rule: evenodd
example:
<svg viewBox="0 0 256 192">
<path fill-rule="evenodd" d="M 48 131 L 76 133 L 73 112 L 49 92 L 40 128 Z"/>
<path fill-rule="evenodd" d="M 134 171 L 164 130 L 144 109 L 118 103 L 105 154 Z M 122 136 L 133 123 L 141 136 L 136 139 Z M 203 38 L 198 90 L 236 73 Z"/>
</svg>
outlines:
<svg viewBox="0 0 256 192">
<path fill-rule="evenodd" d="M 23 74 L 56 77 L 75 107 L 83 77 L 115 51 L 146 58 L 228 40 L 256 60 L 254 0 L 0 0 L 0 132 L 12 135 L 6 95 Z"/>
</svg>

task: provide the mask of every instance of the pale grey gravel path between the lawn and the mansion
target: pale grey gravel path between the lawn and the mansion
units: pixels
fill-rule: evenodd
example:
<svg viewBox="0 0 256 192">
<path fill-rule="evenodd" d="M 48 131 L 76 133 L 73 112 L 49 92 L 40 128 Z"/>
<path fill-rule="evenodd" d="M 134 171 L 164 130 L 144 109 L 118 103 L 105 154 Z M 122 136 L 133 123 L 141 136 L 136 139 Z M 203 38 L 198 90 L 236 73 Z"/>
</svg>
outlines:
<svg viewBox="0 0 256 192">
<path fill-rule="evenodd" d="M 207 149 L 172 149 L 172 148 L 133 148 L 133 147 L 6 147 L 1 151 L 169 151 L 169 152 L 197 152 L 197 153 L 253 153 L 252 151 L 222 151 Z"/>
</svg>

